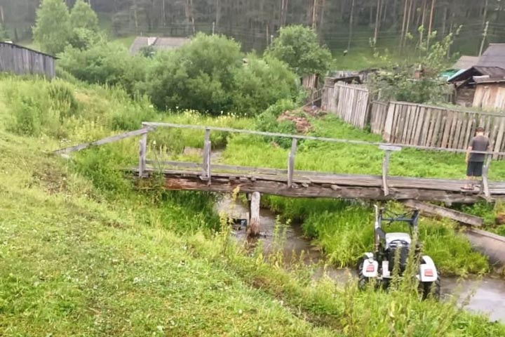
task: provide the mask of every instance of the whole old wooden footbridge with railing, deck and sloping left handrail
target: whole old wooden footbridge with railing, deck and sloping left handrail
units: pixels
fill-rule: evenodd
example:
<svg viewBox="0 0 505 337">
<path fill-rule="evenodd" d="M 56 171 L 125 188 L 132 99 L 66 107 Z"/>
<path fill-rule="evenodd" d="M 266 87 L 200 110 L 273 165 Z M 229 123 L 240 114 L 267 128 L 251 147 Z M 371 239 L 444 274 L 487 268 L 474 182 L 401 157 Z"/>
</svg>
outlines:
<svg viewBox="0 0 505 337">
<path fill-rule="evenodd" d="M 183 128 L 205 131 L 203 138 L 203 155 L 201 162 L 159 161 L 147 157 L 149 133 L 160 128 Z M 268 169 L 246 166 L 229 166 L 212 162 L 211 132 L 242 133 L 251 136 L 266 136 L 289 138 L 292 140 L 291 150 L 286 158 L 285 169 Z M 422 147 L 414 145 L 390 145 L 372 143 L 361 140 L 342 140 L 311 136 L 287 135 L 282 133 L 267 133 L 241 129 L 180 125 L 167 123 L 145 122 L 137 131 L 130 131 L 119 136 L 98 140 L 97 142 L 76 145 L 58 150 L 58 154 L 66 154 L 83 150 L 93 145 L 103 145 L 116 140 L 140 136 L 139 164 L 128 171 L 139 178 L 149 178 L 154 173 L 162 173 L 165 177 L 165 187 L 168 190 L 192 190 L 208 192 L 232 192 L 237 187 L 241 192 L 274 194 L 284 197 L 305 198 L 344 198 L 367 200 L 418 200 L 440 201 L 445 204 L 471 204 L 480 198 L 496 199 L 505 197 L 505 182 L 488 182 L 487 172 L 490 169 L 493 155 L 504 155 L 499 152 L 479 152 L 487 154 L 482 186 L 475 191 L 462 190 L 464 180 L 408 178 L 389 175 L 391 152 L 403 148 L 415 148 L 426 151 L 464 152 L 464 150 L 445 149 L 440 147 Z M 297 142 L 299 140 L 316 140 L 329 143 L 346 143 L 352 145 L 370 145 L 377 151 L 384 152 L 381 176 L 365 176 L 360 174 L 323 173 L 315 171 L 299 171 L 295 169 Z M 462 173 L 464 164 L 462 164 Z"/>
</svg>

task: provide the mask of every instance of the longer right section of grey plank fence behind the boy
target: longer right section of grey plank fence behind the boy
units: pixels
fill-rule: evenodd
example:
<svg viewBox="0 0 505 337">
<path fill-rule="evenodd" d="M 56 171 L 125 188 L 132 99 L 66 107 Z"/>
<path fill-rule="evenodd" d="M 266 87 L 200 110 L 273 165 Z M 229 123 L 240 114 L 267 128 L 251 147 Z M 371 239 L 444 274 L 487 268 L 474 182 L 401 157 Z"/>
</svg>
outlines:
<svg viewBox="0 0 505 337">
<path fill-rule="evenodd" d="M 505 114 L 447 109 L 405 102 L 374 102 L 370 108 L 373 133 L 394 144 L 464 150 L 476 128 L 485 128 L 492 150 L 505 149 Z"/>
</svg>

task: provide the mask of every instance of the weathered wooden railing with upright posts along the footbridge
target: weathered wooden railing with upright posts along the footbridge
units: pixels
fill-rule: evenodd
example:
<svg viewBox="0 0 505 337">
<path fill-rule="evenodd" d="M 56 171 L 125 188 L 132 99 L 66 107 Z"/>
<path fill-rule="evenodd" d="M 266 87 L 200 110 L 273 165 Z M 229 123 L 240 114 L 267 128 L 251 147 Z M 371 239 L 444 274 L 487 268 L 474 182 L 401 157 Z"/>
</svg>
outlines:
<svg viewBox="0 0 505 337">
<path fill-rule="evenodd" d="M 153 161 L 147 159 L 147 137 L 148 133 L 156 131 L 158 128 L 182 128 L 182 129 L 193 129 L 205 131 L 205 136 L 203 139 L 203 158 L 201 163 L 192 162 L 181 162 L 181 161 Z M 400 151 L 403 148 L 411 148 L 417 150 L 429 150 L 438 152 L 452 152 L 452 153 L 466 153 L 466 150 L 458 149 L 448 149 L 444 147 L 427 147 L 419 145 L 403 145 L 403 144 L 388 144 L 388 143 L 378 143 L 378 142 L 368 142 L 364 140 L 347 140 L 338 138 L 325 138 L 325 137 L 314 137 L 314 136 L 301 136 L 301 135 L 290 135 L 285 133 L 271 133 L 264 131 L 251 131 L 235 128 L 222 128 L 218 126 L 200 126 L 200 125 L 183 125 L 183 124 L 171 124 L 171 123 L 158 123 L 158 122 L 144 122 L 142 123 L 142 129 L 145 132 L 142 133 L 140 139 L 139 148 L 139 168 L 138 173 L 140 177 L 144 177 L 147 174 L 147 164 L 161 164 L 165 166 L 175 166 L 184 169 L 201 170 L 201 178 L 207 180 L 210 184 L 213 169 L 217 171 L 247 171 L 249 173 L 253 172 L 255 174 L 274 174 L 276 176 L 285 176 L 287 180 L 288 187 L 292 187 L 294 176 L 295 176 L 295 158 L 297 154 L 297 144 L 299 140 L 316 140 L 327 143 L 346 143 L 353 145 L 372 145 L 379 148 L 379 150 L 384 151 L 384 159 L 382 163 L 382 190 L 384 195 L 389 194 L 388 186 L 388 173 L 389 173 L 389 161 L 391 158 L 391 152 Z M 211 142 L 210 134 L 213 131 L 227 132 L 227 133 L 242 133 L 253 136 L 267 136 L 267 137 L 279 137 L 279 138 L 290 138 L 291 139 L 291 149 L 287 158 L 286 169 L 263 169 L 255 167 L 245 167 L 245 166 L 228 166 L 220 164 L 211 163 Z M 485 194 L 485 197 L 490 197 L 489 185 L 487 181 L 488 172 L 492 162 L 493 155 L 505 155 L 505 152 L 480 152 L 472 151 L 472 153 L 486 154 L 485 167 L 483 170 L 483 181 L 481 191 Z M 216 172 L 215 172 L 216 173 Z M 296 171 L 296 173 L 309 173 L 306 171 Z M 322 173 L 322 172 L 310 172 L 312 175 L 328 175 L 332 173 Z"/>
</svg>

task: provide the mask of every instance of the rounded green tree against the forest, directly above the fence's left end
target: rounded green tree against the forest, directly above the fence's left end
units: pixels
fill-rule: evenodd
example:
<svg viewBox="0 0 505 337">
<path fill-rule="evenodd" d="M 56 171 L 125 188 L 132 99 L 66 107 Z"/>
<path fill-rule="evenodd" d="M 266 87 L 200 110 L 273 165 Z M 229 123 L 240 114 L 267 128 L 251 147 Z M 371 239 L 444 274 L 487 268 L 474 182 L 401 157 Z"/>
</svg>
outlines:
<svg viewBox="0 0 505 337">
<path fill-rule="evenodd" d="M 288 64 L 299 77 L 325 75 L 332 60 L 328 48 L 319 46 L 316 32 L 300 25 L 281 28 L 265 54 Z"/>
</svg>

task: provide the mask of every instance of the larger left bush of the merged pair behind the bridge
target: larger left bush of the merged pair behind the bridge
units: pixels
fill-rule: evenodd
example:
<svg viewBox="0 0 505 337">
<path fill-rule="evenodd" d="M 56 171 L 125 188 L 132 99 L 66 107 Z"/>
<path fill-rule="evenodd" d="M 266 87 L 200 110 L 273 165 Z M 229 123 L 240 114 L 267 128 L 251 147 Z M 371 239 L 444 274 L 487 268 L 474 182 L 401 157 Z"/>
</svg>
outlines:
<svg viewBox="0 0 505 337">
<path fill-rule="evenodd" d="M 161 110 L 177 108 L 220 114 L 231 110 L 234 71 L 241 66 L 240 44 L 198 34 L 191 43 L 159 53 L 147 75 L 147 92 Z"/>
</svg>

